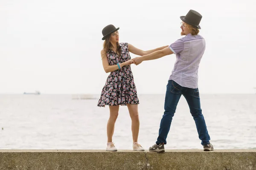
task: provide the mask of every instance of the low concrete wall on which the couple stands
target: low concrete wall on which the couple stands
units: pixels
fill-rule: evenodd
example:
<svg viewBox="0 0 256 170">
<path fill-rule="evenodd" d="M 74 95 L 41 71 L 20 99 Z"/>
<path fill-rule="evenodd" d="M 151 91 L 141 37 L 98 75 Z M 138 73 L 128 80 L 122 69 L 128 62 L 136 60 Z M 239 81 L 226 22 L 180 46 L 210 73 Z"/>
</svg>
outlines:
<svg viewBox="0 0 256 170">
<path fill-rule="evenodd" d="M 256 150 L 0 150 L 0 170 L 256 170 Z"/>
</svg>

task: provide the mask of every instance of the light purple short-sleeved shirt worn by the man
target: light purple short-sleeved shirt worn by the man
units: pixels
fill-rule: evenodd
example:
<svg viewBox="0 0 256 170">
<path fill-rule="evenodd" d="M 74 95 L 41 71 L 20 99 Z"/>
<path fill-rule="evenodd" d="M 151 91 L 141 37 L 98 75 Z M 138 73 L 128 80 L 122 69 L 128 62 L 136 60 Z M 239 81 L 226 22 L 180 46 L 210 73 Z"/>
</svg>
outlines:
<svg viewBox="0 0 256 170">
<path fill-rule="evenodd" d="M 198 88 L 198 68 L 205 50 L 205 40 L 201 35 L 185 37 L 172 43 L 169 48 L 176 54 L 176 62 L 169 80 L 182 87 Z"/>
</svg>

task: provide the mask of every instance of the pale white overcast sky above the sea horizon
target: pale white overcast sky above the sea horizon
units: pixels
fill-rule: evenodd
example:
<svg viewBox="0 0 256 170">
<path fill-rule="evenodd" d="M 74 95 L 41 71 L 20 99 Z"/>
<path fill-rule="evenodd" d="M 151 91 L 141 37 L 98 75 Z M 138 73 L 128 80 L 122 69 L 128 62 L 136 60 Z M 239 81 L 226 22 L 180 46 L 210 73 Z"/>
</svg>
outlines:
<svg viewBox="0 0 256 170">
<path fill-rule="evenodd" d="M 179 39 L 180 16 L 203 16 L 206 51 L 199 67 L 204 94 L 256 90 L 253 0 L 0 0 L 0 93 L 100 94 L 102 28 L 142 50 Z M 131 54 L 131 57 L 137 57 Z M 139 94 L 165 93 L 175 54 L 132 65 Z"/>
</svg>

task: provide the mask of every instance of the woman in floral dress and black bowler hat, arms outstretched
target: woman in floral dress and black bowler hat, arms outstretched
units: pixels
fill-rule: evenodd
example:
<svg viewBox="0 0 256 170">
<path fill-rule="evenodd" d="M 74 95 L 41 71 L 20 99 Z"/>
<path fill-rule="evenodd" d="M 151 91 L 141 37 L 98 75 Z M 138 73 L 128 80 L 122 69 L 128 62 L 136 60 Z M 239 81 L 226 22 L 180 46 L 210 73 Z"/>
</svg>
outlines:
<svg viewBox="0 0 256 170">
<path fill-rule="evenodd" d="M 102 65 L 106 73 L 110 73 L 106 84 L 103 87 L 101 97 L 98 102 L 99 107 L 109 105 L 110 116 L 107 124 L 108 143 L 106 150 L 116 151 L 112 142 L 115 122 L 118 116 L 119 105 L 127 105 L 131 117 L 131 130 L 133 137 L 133 150 L 144 151 L 138 143 L 140 128 L 137 90 L 134 84 L 134 77 L 131 72 L 131 60 L 129 52 L 136 55 L 150 54 L 161 50 L 167 46 L 156 48 L 154 50 L 142 51 L 128 43 L 119 43 L 119 28 L 108 25 L 102 30 L 105 40 L 101 51 Z"/>
</svg>

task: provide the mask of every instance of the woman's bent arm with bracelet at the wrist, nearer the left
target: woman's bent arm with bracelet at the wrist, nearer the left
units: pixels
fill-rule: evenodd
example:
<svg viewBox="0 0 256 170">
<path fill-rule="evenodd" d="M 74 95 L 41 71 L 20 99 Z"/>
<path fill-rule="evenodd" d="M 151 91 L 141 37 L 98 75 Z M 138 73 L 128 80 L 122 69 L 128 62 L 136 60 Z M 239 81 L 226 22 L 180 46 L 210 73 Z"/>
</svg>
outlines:
<svg viewBox="0 0 256 170">
<path fill-rule="evenodd" d="M 109 65 L 108 57 L 106 56 L 106 53 L 105 53 L 104 50 L 102 50 L 100 53 L 101 53 L 101 57 L 102 57 L 102 65 L 103 65 L 103 68 L 104 68 L 106 73 L 109 73 L 109 72 L 112 72 L 112 71 L 116 71 L 116 70 L 119 69 L 118 65 Z M 120 63 L 120 67 L 122 68 L 122 66 L 130 65 L 132 63 L 134 63 L 134 62 L 131 59 L 129 59 L 126 62 Z"/>
</svg>

